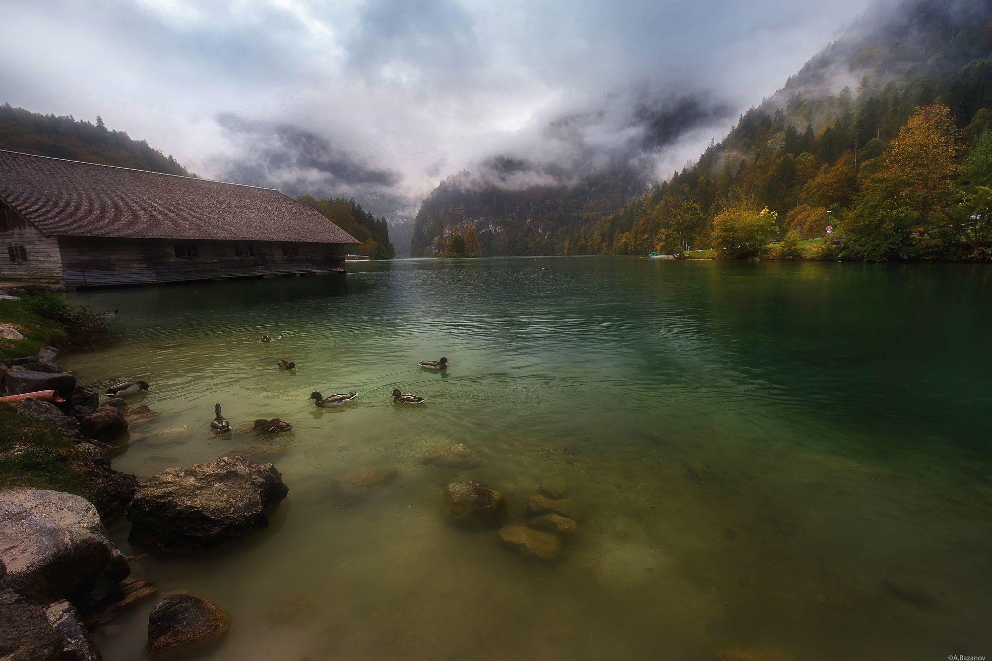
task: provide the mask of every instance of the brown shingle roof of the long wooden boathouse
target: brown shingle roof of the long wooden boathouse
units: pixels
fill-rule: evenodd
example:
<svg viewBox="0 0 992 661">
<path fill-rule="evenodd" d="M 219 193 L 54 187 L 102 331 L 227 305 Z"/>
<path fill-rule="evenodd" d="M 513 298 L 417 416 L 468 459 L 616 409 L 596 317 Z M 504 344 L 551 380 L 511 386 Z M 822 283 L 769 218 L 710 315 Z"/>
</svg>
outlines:
<svg viewBox="0 0 992 661">
<path fill-rule="evenodd" d="M 0 198 L 50 236 L 358 243 L 272 189 L 6 150 Z"/>
</svg>

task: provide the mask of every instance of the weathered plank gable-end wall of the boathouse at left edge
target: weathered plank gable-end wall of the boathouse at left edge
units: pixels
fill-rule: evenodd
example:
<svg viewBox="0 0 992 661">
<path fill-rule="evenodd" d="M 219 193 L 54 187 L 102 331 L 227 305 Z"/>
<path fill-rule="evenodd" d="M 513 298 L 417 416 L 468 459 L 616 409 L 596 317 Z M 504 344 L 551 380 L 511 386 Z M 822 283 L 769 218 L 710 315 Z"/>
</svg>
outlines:
<svg viewBox="0 0 992 661">
<path fill-rule="evenodd" d="M 12 257 L 8 248 L 13 248 L 18 257 Z M 59 239 L 43 234 L 3 200 L 0 200 L 0 280 L 62 282 Z"/>
</svg>

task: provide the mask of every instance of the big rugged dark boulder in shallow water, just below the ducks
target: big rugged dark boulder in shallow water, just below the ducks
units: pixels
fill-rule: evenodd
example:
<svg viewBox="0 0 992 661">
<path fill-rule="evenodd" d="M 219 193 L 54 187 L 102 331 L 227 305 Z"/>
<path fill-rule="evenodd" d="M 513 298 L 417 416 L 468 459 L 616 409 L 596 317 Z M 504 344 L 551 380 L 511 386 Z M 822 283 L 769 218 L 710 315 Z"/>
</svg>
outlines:
<svg viewBox="0 0 992 661">
<path fill-rule="evenodd" d="M 266 508 L 288 491 L 274 465 L 241 457 L 170 468 L 138 485 L 127 509 L 128 540 L 184 552 L 240 539 L 269 525 Z"/>
</svg>

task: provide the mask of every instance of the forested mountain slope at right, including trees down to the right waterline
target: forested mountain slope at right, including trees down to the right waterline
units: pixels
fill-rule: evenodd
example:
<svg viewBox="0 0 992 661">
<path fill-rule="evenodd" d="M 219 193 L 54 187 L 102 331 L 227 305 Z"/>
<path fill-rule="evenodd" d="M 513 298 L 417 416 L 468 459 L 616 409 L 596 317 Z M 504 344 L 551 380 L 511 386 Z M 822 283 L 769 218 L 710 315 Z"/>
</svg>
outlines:
<svg viewBox="0 0 992 661">
<path fill-rule="evenodd" d="M 413 254 L 430 252 L 432 242 L 442 244 L 445 234 L 463 231 L 466 224 L 479 228 L 484 254 L 679 251 L 686 244 L 713 243 L 714 219 L 724 211 L 742 222 L 771 220 L 780 234 L 801 227 L 803 236 L 820 234 L 831 223 L 849 226 L 853 236 L 856 225 L 868 230 L 871 223 L 866 224 L 865 216 L 888 214 L 888 224 L 872 231 L 898 234 L 901 243 L 859 251 L 853 250 L 857 241 L 852 240 L 848 257 L 973 254 L 987 228 L 970 233 L 961 229 L 981 224 L 974 203 L 982 195 L 980 189 L 990 184 L 980 181 L 984 175 L 976 165 L 984 158 L 981 138 L 992 119 L 990 17 L 989 3 L 983 0 L 911 0 L 866 14 L 782 90 L 741 115 L 726 138 L 694 165 L 622 208 L 614 204 L 623 203 L 624 194 L 636 185 L 591 187 L 579 210 L 555 203 L 540 190 L 479 191 L 445 182 L 418 214 Z M 942 122 L 940 111 L 931 112 L 916 124 L 917 133 L 925 135 L 907 136 L 900 143 L 906 149 L 896 150 L 894 156 L 891 145 L 910 118 L 918 108 L 933 104 L 945 109 L 952 124 Z M 930 140 L 930 148 L 913 152 L 913 140 Z M 922 158 L 935 145 L 942 146 L 945 156 L 952 153 L 939 177 L 947 186 L 953 184 L 955 192 L 943 187 L 939 199 L 928 193 L 909 207 L 866 206 L 872 177 L 877 188 L 879 177 L 885 179 L 882 171 L 906 175 L 904 170 L 921 164 L 900 158 Z M 966 173 L 968 181 L 962 179 Z M 906 191 L 937 177 L 924 171 L 906 176 L 916 179 L 902 184 L 893 183 L 892 177 L 886 180 L 890 198 L 908 199 Z M 604 189 L 607 195 L 597 195 Z M 971 217 L 962 224 L 957 216 L 967 210 L 961 205 L 966 196 L 973 202 L 968 213 L 979 219 Z M 521 198 L 528 203 L 520 203 Z M 507 204 L 507 199 L 517 203 Z M 877 191 L 875 199 L 882 199 Z M 501 203 L 512 214 L 508 226 L 500 224 Z M 769 211 L 759 219 L 764 207 Z M 549 208 L 558 213 L 553 226 L 547 220 Z M 957 229 L 933 225 L 938 218 L 956 223 Z M 541 240 L 522 242 L 516 235 L 524 232 L 538 234 Z M 941 245 L 934 244 L 938 234 Z"/>
</svg>

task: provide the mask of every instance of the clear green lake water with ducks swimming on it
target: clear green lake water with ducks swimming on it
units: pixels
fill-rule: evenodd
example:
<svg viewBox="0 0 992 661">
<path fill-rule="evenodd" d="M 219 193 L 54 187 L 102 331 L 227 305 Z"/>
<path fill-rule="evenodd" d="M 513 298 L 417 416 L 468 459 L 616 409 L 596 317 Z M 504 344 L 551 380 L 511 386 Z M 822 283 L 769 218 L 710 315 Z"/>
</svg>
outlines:
<svg viewBox="0 0 992 661">
<path fill-rule="evenodd" d="M 290 494 L 269 528 L 132 563 L 232 619 L 216 659 L 944 659 L 992 653 L 992 269 L 533 258 L 79 293 L 124 341 L 80 382 L 151 384 L 115 467 L 240 449 Z M 270 334 L 274 341 L 259 338 Z M 444 355 L 447 373 L 418 360 Z M 281 372 L 280 358 L 296 372 Z M 393 388 L 428 398 L 401 408 Z M 306 401 L 357 390 L 354 405 Z M 275 438 L 209 433 L 281 417 Z M 139 403 L 137 400 L 135 404 Z M 421 463 L 462 443 L 482 458 Z M 332 480 L 395 481 L 344 506 Z M 553 565 L 450 525 L 511 523 L 548 477 L 581 507 Z M 127 553 L 127 523 L 112 526 Z M 142 602 L 98 630 L 141 658 Z"/>
</svg>

